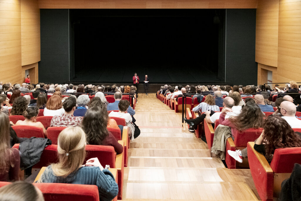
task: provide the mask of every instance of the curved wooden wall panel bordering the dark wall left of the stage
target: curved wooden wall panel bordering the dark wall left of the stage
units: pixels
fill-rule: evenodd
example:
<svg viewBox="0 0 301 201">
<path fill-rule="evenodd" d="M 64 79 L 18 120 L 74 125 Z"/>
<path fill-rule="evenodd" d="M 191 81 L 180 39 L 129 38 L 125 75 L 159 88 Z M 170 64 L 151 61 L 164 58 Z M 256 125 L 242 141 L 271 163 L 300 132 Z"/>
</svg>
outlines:
<svg viewBox="0 0 301 201">
<path fill-rule="evenodd" d="M 21 0 L 21 45 L 22 66 L 41 60 L 38 0 Z"/>
</svg>

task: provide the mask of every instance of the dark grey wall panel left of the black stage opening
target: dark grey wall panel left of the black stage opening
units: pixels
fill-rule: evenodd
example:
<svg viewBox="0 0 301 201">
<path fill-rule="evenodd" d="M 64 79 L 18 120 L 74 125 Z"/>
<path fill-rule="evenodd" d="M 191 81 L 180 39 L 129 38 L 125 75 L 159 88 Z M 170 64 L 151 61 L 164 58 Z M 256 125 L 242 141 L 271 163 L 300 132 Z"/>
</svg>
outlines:
<svg viewBox="0 0 301 201">
<path fill-rule="evenodd" d="M 40 16 L 39 81 L 62 83 L 69 80 L 69 11 L 40 9 Z"/>
</svg>

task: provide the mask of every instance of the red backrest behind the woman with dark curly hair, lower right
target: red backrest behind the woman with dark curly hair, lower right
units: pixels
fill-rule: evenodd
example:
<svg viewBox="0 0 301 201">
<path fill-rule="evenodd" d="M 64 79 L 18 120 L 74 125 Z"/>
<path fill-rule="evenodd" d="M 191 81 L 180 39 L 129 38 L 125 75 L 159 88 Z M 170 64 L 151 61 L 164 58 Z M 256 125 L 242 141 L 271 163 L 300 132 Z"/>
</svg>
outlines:
<svg viewBox="0 0 301 201">
<path fill-rule="evenodd" d="M 274 173 L 290 173 L 295 163 L 301 164 L 301 147 L 275 149 L 271 168 Z"/>
</svg>

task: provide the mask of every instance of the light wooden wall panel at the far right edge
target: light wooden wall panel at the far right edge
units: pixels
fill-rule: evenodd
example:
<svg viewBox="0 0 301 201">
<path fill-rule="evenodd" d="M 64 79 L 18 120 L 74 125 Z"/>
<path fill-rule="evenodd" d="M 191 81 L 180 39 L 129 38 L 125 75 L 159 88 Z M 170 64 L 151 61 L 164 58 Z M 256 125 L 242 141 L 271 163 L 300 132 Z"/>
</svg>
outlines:
<svg viewBox="0 0 301 201">
<path fill-rule="evenodd" d="M 301 0 L 279 0 L 278 80 L 301 81 Z"/>
</svg>

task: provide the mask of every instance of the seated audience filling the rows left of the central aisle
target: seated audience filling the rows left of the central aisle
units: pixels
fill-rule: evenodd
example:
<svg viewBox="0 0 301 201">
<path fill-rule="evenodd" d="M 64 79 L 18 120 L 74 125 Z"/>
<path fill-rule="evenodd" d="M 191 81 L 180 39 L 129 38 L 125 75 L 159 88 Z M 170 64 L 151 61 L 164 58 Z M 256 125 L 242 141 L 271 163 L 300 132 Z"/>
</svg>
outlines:
<svg viewBox="0 0 301 201">
<path fill-rule="evenodd" d="M 135 122 L 135 110 L 130 106 L 129 96 L 123 100 L 123 93 L 129 93 L 134 97 L 132 101 L 137 102 L 136 90 L 135 86 L 118 87 L 116 84 L 74 86 L 23 83 L 12 86 L 0 82 L 0 155 L 3 159 L 0 162 L 0 181 L 23 180 L 19 175 L 22 156 L 12 146 L 17 143 L 21 146 L 27 138 L 17 137 L 14 126 L 41 128 L 46 138 L 48 127 L 67 127 L 57 138 L 58 162 L 49 165 L 38 182 L 93 184 L 98 186 L 101 200 L 112 200 L 118 193 L 113 174 L 104 169 L 106 164 L 100 164 L 98 158 L 84 161 L 85 146 L 112 146 L 116 154 L 123 153 L 123 145 L 109 128 L 120 130 L 122 135 L 123 125 L 118 125 L 113 117 L 122 118 L 129 127 L 127 137 L 134 139 L 135 126 L 132 122 Z M 107 95 L 112 95 L 115 101 L 109 103 Z M 50 117 L 47 127 L 37 119 L 39 116 Z M 11 117 L 23 119 L 12 122 Z"/>
</svg>

